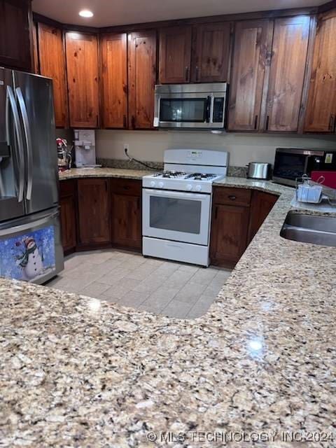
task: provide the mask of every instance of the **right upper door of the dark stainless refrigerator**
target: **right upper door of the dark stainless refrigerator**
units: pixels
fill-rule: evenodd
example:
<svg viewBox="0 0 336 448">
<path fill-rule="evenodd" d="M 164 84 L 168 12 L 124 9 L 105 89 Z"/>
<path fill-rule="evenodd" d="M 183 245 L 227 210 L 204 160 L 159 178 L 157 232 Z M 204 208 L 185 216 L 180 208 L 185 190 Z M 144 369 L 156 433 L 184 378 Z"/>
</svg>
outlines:
<svg viewBox="0 0 336 448">
<path fill-rule="evenodd" d="M 24 135 L 26 211 L 33 214 L 58 203 L 52 80 L 15 71 L 14 87 Z"/>
</svg>

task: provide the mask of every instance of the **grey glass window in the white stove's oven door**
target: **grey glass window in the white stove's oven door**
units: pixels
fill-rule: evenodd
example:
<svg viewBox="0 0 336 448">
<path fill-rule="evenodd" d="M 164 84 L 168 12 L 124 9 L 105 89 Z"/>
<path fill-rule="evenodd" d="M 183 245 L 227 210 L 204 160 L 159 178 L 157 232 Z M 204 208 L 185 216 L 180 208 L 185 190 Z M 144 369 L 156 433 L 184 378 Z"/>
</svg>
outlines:
<svg viewBox="0 0 336 448">
<path fill-rule="evenodd" d="M 201 210 L 201 201 L 151 196 L 150 226 L 160 230 L 199 235 Z"/>
</svg>

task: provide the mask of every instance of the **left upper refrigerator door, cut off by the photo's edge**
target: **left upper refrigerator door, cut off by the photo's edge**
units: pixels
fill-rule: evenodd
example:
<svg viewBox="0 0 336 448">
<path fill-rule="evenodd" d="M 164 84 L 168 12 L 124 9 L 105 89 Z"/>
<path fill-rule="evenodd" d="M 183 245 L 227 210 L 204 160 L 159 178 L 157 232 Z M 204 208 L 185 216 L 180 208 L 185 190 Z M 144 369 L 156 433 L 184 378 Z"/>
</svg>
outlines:
<svg viewBox="0 0 336 448">
<path fill-rule="evenodd" d="M 25 215 L 25 158 L 13 72 L 0 67 L 0 222 Z"/>
</svg>

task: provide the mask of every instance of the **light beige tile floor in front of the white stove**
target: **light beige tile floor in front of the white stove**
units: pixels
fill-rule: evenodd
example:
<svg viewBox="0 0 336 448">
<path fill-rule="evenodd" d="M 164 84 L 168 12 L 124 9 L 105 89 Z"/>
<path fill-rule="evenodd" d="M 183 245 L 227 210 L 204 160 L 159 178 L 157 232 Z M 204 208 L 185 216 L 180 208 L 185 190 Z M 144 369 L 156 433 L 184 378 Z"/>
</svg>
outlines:
<svg viewBox="0 0 336 448">
<path fill-rule="evenodd" d="M 176 318 L 202 316 L 230 270 L 197 267 L 106 249 L 65 259 L 46 286 Z"/>
</svg>

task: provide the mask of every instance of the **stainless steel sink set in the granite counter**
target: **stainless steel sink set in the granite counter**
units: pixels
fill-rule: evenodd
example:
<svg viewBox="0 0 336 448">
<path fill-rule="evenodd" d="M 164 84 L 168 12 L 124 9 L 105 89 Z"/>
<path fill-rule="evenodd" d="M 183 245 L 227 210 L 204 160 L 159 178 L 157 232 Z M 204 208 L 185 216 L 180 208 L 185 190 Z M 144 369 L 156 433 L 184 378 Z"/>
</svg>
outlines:
<svg viewBox="0 0 336 448">
<path fill-rule="evenodd" d="M 289 212 L 280 235 L 302 243 L 336 247 L 336 218 Z"/>
</svg>

